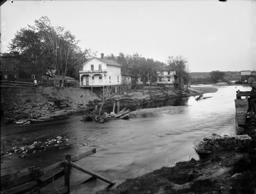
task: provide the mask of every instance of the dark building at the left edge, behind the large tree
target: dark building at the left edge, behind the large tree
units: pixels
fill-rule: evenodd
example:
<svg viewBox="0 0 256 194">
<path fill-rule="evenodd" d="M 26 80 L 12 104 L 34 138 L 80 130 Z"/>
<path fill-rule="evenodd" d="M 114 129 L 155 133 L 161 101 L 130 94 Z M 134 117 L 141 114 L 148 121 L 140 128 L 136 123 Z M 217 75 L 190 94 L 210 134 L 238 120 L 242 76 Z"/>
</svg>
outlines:
<svg viewBox="0 0 256 194">
<path fill-rule="evenodd" d="M 19 53 L 0 53 L 0 80 L 17 81 L 19 78 Z"/>
</svg>

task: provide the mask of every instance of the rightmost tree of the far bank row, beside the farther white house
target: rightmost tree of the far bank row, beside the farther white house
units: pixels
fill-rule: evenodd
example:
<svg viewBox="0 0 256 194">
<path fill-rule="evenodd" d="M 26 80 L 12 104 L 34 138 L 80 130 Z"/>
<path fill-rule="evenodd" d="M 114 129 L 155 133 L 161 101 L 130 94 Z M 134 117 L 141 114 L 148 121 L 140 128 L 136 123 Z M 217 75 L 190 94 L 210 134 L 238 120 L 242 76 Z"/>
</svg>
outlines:
<svg viewBox="0 0 256 194">
<path fill-rule="evenodd" d="M 170 56 L 167 59 L 167 64 L 171 67 L 178 76 L 178 90 L 183 90 L 184 78 L 186 78 L 187 59 L 179 55 L 176 57 Z"/>
</svg>

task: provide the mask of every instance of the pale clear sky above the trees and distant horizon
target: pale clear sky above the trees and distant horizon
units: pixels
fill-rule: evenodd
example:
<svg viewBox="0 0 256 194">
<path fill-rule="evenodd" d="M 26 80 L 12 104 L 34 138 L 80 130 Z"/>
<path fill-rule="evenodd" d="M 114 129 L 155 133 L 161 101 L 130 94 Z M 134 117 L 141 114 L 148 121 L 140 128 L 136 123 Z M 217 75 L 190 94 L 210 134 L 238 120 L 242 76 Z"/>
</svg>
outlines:
<svg viewBox="0 0 256 194">
<path fill-rule="evenodd" d="M 7 0 L 0 52 L 44 15 L 98 57 L 137 52 L 166 62 L 182 55 L 191 72 L 256 69 L 256 0 Z"/>
</svg>

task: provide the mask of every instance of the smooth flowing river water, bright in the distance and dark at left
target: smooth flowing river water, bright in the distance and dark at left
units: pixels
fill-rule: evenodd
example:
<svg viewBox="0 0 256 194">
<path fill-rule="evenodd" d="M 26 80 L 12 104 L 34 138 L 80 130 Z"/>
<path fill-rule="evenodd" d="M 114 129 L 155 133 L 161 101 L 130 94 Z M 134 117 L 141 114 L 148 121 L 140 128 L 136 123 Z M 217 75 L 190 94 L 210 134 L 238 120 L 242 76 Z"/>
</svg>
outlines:
<svg viewBox="0 0 256 194">
<path fill-rule="evenodd" d="M 203 86 L 206 87 L 206 86 Z M 138 177 L 178 161 L 199 159 L 195 146 L 212 133 L 235 134 L 236 91 L 250 91 L 251 87 L 221 86 L 212 97 L 195 101 L 195 97 L 182 99 L 175 105 L 187 104 L 178 110 L 138 114 L 128 120 L 106 123 L 81 122 L 81 114 L 65 119 L 26 126 L 1 126 L 1 147 L 31 145 L 45 142 L 56 136 L 72 140 L 71 147 L 52 148 L 25 158 L 5 159 L 1 174 L 36 165 L 45 168 L 64 159 L 64 153 L 72 156 L 96 148 L 96 153 L 81 159 L 77 164 L 121 183 L 127 178 Z M 173 103 L 172 103 L 173 104 Z M 167 104 L 164 104 L 165 106 Z M 76 138 L 76 139 L 74 139 Z M 101 180 L 87 180 L 90 176 L 73 170 L 71 193 L 95 193 L 108 186 Z M 62 187 L 55 183 L 57 187 Z M 118 185 L 118 184 L 116 184 Z"/>
</svg>

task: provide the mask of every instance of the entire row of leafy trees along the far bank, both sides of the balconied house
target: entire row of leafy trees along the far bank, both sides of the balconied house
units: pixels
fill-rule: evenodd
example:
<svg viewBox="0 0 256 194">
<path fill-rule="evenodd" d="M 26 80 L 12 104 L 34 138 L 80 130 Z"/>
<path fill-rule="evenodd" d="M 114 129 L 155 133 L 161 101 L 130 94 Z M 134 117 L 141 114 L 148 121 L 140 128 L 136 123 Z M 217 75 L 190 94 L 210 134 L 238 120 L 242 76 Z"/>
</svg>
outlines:
<svg viewBox="0 0 256 194">
<path fill-rule="evenodd" d="M 82 50 L 78 43 L 79 40 L 69 30 L 61 26 L 52 26 L 49 18 L 43 16 L 35 20 L 33 26 L 28 25 L 17 31 L 8 48 L 20 53 L 20 71 L 50 72 L 54 81 L 62 78 L 63 87 L 66 75 L 79 78 L 81 65 L 88 58 L 96 56 L 96 52 L 92 52 L 91 49 Z M 160 77 L 161 68 L 176 71 L 179 90 L 182 90 L 184 81 L 188 82 L 188 61 L 183 56 L 169 56 L 167 63 L 145 58 L 138 53 L 129 55 L 121 52 L 117 58 L 113 54 L 105 58 L 122 65 L 124 84 L 128 75 L 133 75 L 140 78 L 143 85 L 151 85 Z"/>
</svg>

